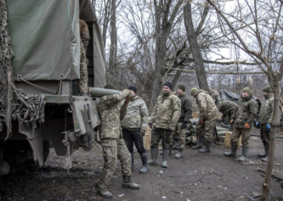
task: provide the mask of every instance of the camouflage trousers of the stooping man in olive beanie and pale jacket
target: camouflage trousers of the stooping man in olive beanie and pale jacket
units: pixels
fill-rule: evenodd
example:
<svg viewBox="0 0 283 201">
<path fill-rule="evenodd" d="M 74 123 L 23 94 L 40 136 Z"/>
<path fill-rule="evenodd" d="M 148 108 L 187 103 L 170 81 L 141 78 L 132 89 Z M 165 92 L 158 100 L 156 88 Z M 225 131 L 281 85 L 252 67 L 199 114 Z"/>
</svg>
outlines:
<svg viewBox="0 0 283 201">
<path fill-rule="evenodd" d="M 214 129 L 214 125 L 216 124 L 216 120 L 206 120 L 204 121 L 204 124 L 202 124 L 200 121 L 198 121 L 195 125 L 195 128 L 197 130 L 197 135 L 201 135 L 205 137 L 207 141 L 212 141 L 212 131 Z"/>
</svg>

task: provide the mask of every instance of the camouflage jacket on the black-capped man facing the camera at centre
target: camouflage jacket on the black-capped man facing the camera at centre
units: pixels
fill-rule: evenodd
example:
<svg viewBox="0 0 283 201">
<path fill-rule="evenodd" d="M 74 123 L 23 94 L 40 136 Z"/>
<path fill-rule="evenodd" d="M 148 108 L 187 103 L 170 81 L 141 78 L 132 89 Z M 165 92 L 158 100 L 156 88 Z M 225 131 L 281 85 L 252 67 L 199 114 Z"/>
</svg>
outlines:
<svg viewBox="0 0 283 201">
<path fill-rule="evenodd" d="M 172 91 L 168 96 L 158 96 L 149 123 L 154 123 L 157 128 L 175 130 L 180 117 L 180 107 L 180 99 Z"/>
</svg>

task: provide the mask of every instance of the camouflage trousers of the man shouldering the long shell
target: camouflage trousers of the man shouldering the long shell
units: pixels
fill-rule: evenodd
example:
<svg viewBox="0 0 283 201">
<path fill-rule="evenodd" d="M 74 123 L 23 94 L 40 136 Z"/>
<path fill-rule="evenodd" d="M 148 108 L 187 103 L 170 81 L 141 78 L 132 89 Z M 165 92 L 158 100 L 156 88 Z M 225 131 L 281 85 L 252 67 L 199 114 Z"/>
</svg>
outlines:
<svg viewBox="0 0 283 201">
<path fill-rule="evenodd" d="M 122 176 L 131 176 L 131 155 L 126 147 L 124 139 L 100 139 L 103 149 L 104 166 L 98 182 L 98 189 L 107 188 L 116 168 L 117 159 L 121 162 Z"/>
</svg>

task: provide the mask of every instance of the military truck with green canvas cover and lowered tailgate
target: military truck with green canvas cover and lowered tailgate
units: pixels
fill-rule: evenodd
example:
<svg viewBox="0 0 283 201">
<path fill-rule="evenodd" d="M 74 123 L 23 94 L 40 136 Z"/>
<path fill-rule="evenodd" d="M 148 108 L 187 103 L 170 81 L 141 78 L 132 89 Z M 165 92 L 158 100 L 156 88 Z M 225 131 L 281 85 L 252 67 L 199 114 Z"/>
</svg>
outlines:
<svg viewBox="0 0 283 201">
<path fill-rule="evenodd" d="M 92 149 L 100 124 L 95 98 L 78 96 L 76 84 L 81 18 L 91 36 L 88 86 L 105 85 L 95 10 L 90 0 L 1 1 L 0 176 L 30 161 L 42 167 L 50 144 L 71 168 L 71 154 Z"/>
</svg>

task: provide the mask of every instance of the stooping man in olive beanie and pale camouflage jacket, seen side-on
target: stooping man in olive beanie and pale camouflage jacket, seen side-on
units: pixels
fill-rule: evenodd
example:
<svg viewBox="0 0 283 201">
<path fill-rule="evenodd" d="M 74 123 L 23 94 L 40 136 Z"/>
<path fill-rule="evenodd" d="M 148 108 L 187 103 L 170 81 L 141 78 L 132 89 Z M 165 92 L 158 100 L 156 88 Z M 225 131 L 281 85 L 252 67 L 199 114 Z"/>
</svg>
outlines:
<svg viewBox="0 0 283 201">
<path fill-rule="evenodd" d="M 200 108 L 200 120 L 196 124 L 197 146 L 192 147 L 192 149 L 200 149 L 200 153 L 207 153 L 212 151 L 212 130 L 218 119 L 218 110 L 207 91 L 192 88 L 190 95 L 197 99 L 197 105 Z M 205 147 L 203 148 L 204 140 Z"/>
</svg>

